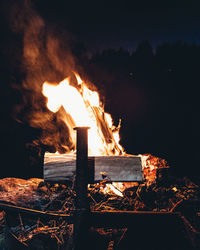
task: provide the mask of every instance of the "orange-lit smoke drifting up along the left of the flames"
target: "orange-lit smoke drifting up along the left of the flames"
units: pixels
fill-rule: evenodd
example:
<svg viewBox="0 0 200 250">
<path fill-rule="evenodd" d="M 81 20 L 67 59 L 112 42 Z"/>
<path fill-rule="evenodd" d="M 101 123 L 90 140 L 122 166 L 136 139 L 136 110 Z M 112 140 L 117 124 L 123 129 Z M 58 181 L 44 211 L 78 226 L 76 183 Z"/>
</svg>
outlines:
<svg viewBox="0 0 200 250">
<path fill-rule="evenodd" d="M 10 27 L 23 44 L 20 62 L 23 77 L 20 85 L 13 85 L 21 93 L 22 103 L 15 105 L 14 117 L 41 131 L 34 144 L 53 148 L 53 151 L 69 151 L 74 145 L 61 118 L 63 111 L 56 114 L 48 111 L 41 90 L 44 81 L 59 82 L 75 71 L 70 47 L 72 36 L 46 23 L 30 0 L 10 1 L 9 4 Z"/>
</svg>

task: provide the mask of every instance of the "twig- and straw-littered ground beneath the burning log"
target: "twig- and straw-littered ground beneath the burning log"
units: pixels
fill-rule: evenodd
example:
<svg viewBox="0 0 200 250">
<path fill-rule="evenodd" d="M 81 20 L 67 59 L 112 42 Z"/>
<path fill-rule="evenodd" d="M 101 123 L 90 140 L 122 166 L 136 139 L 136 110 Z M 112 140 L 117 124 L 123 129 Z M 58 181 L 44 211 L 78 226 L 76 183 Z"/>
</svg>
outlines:
<svg viewBox="0 0 200 250">
<path fill-rule="evenodd" d="M 159 159 L 153 159 L 153 156 L 151 161 L 164 164 Z M 70 249 L 72 223 L 62 216 L 59 219 L 53 216 L 40 217 L 34 210 L 45 212 L 47 215 L 72 215 L 75 199 L 73 185 L 73 182 L 46 183 L 37 178 L 0 180 L 1 204 L 29 208 L 33 211 L 29 215 L 24 215 L 20 210 L 11 211 L 5 223 L 5 209 L 2 209 L 0 249 L 15 249 L 12 241 L 15 242 L 14 245 L 21 247 L 16 249 Z M 199 183 L 194 183 L 187 177 L 163 177 L 159 174 L 156 181 L 140 184 L 110 183 L 105 179 L 89 185 L 88 200 L 91 211 L 181 211 L 196 232 L 200 231 L 200 187 Z M 127 228 L 91 228 L 90 231 L 97 242 L 99 239 L 100 248 L 96 249 L 118 249 L 117 246 L 125 237 Z M 12 247 L 6 248 L 9 244 Z"/>
</svg>

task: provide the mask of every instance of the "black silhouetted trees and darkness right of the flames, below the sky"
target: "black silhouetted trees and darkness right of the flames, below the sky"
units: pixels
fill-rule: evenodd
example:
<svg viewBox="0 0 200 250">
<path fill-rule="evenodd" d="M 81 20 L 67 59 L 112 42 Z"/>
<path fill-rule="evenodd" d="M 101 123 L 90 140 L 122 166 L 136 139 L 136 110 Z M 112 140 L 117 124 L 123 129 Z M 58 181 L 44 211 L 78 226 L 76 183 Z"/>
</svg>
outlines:
<svg viewBox="0 0 200 250">
<path fill-rule="evenodd" d="M 174 42 L 153 50 L 143 41 L 131 53 L 120 48 L 84 55 L 81 65 L 106 111 L 116 123 L 122 119 L 127 152 L 152 153 L 177 174 L 197 174 L 200 46 Z"/>
</svg>

